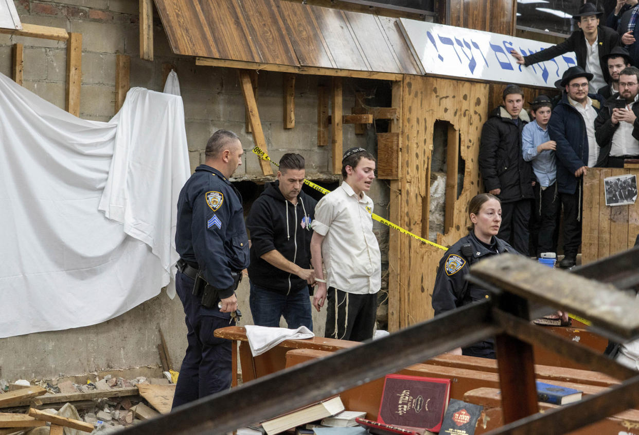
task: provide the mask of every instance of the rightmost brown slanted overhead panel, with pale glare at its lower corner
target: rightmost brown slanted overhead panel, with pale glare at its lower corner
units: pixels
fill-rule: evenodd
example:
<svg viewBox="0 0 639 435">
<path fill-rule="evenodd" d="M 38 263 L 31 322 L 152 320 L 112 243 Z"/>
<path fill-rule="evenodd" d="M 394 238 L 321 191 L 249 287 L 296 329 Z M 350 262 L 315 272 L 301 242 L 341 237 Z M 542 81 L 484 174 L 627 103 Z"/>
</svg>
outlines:
<svg viewBox="0 0 639 435">
<path fill-rule="evenodd" d="M 305 67 L 337 68 L 328 45 L 319 32 L 311 8 L 305 4 L 281 1 L 277 3 L 286 30 L 300 65 Z"/>
</svg>

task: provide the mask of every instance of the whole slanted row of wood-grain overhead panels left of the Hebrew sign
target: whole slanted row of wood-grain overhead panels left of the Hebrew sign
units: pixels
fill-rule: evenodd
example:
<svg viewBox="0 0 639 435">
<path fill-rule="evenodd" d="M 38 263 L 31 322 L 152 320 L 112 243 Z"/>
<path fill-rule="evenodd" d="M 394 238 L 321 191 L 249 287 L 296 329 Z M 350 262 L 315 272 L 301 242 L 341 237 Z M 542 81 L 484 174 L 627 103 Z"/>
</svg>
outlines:
<svg viewBox="0 0 639 435">
<path fill-rule="evenodd" d="M 396 19 L 281 0 L 155 0 L 177 54 L 419 74 Z"/>
</svg>

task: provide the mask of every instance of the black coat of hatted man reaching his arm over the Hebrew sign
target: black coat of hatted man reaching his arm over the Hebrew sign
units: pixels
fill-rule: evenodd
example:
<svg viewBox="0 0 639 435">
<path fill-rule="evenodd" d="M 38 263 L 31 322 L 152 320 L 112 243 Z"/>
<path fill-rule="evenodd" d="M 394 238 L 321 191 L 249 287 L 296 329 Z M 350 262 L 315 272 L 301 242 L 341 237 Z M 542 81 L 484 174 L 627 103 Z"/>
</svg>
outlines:
<svg viewBox="0 0 639 435">
<path fill-rule="evenodd" d="M 613 47 L 619 45 L 619 33 L 606 26 L 599 26 L 597 28 L 597 40 L 599 51 L 599 65 L 601 65 L 601 72 L 603 73 L 603 79 L 606 83 L 610 82 L 610 74 L 608 73 L 608 64 L 603 61 L 602 57 L 610 53 Z M 588 57 L 588 49 L 586 47 L 586 37 L 583 35 L 583 30 L 575 30 L 572 35 L 568 36 L 567 40 L 547 49 L 538 51 L 536 53 L 524 56 L 524 62 L 527 67 L 537 62 L 543 62 L 556 58 L 560 54 L 566 54 L 574 51 L 574 55 L 577 58 L 577 65 L 586 69 L 586 58 Z"/>
</svg>

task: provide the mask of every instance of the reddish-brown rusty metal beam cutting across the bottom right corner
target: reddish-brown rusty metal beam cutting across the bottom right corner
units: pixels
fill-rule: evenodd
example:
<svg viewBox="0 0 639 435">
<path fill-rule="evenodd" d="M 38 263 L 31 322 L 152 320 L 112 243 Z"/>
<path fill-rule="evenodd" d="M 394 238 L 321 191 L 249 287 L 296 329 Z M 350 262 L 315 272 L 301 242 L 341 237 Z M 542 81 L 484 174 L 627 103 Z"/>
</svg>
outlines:
<svg viewBox="0 0 639 435">
<path fill-rule="evenodd" d="M 639 376 L 627 379 L 608 391 L 589 395 L 579 402 L 547 409 L 488 432 L 486 435 L 559 435 L 626 411 L 639 404 Z"/>
</svg>

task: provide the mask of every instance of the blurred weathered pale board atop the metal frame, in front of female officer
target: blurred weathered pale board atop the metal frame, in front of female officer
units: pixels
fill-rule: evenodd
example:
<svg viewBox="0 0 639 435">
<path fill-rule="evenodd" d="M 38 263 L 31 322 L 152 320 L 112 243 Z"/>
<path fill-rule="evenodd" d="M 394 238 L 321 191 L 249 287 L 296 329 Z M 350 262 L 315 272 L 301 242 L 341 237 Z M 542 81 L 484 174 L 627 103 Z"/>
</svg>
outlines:
<svg viewBox="0 0 639 435">
<path fill-rule="evenodd" d="M 609 283 L 548 269 L 512 254 L 474 264 L 468 280 L 580 315 L 589 319 L 597 332 L 618 342 L 639 336 L 639 301 Z"/>
</svg>

